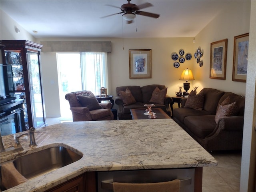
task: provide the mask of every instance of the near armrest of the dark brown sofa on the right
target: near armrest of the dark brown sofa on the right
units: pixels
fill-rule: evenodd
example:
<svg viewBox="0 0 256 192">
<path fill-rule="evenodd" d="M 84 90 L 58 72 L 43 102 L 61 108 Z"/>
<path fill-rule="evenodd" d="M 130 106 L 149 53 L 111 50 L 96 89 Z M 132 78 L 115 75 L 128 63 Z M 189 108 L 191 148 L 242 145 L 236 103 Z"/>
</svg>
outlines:
<svg viewBox="0 0 256 192">
<path fill-rule="evenodd" d="M 244 116 L 230 116 L 222 117 L 218 122 L 218 126 L 221 130 L 243 130 Z"/>
</svg>

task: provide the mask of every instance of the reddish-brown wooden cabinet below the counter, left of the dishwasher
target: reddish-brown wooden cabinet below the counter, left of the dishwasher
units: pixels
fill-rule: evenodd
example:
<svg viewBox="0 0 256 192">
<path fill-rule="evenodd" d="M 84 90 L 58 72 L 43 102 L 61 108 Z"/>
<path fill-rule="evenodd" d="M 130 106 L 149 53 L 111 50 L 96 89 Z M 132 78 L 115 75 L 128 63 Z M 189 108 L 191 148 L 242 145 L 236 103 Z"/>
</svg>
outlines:
<svg viewBox="0 0 256 192">
<path fill-rule="evenodd" d="M 96 192 L 96 173 L 86 172 L 46 192 Z"/>
</svg>

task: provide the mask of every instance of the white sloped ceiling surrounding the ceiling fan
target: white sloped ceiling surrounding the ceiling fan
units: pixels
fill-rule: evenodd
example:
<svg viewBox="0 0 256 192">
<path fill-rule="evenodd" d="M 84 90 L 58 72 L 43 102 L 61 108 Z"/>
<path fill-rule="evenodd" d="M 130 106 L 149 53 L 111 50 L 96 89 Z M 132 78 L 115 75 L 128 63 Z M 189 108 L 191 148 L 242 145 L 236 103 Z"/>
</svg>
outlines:
<svg viewBox="0 0 256 192">
<path fill-rule="evenodd" d="M 194 37 L 232 1 L 132 0 L 152 7 L 126 24 L 120 12 L 126 0 L 0 0 L 0 8 L 35 38 L 152 38 Z M 112 5 L 112 6 L 107 6 Z M 137 29 L 137 31 L 136 31 Z M 38 31 L 37 34 L 32 31 Z"/>
</svg>

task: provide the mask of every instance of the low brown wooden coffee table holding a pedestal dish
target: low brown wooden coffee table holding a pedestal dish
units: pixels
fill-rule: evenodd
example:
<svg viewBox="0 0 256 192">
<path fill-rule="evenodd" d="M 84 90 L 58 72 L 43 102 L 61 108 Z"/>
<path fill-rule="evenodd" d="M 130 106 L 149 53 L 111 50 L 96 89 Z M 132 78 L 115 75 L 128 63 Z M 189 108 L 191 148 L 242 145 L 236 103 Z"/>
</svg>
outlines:
<svg viewBox="0 0 256 192">
<path fill-rule="evenodd" d="M 166 114 L 161 108 L 152 108 L 156 113 L 156 119 L 170 119 L 170 116 Z M 149 119 L 148 115 L 144 115 L 146 108 L 131 109 L 132 119 Z"/>
</svg>

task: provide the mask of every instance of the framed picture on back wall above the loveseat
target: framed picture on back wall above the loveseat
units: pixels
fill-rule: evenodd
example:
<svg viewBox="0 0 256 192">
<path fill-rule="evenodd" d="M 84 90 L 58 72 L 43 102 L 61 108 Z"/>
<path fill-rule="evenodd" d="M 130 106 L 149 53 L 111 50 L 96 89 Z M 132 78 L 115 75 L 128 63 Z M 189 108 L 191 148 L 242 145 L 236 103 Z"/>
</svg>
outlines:
<svg viewBox="0 0 256 192">
<path fill-rule="evenodd" d="M 151 49 L 129 50 L 130 79 L 151 78 Z"/>
</svg>

